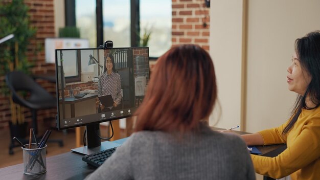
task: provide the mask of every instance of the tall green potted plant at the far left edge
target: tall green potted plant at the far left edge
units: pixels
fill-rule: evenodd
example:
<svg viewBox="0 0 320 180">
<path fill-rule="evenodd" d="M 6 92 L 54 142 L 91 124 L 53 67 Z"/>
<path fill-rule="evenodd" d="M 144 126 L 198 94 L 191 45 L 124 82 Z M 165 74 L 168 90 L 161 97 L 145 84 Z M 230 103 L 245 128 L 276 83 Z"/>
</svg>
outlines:
<svg viewBox="0 0 320 180">
<path fill-rule="evenodd" d="M 30 74 L 33 63 L 27 59 L 27 51 L 36 29 L 30 26 L 28 11 L 29 7 L 23 0 L 0 2 L 0 37 L 14 35 L 14 38 L 0 44 L 0 76 L 17 70 Z M 1 92 L 8 97 L 10 91 L 5 81 L 1 81 L 0 87 Z M 23 123 L 24 118 L 21 113 L 24 109 L 9 99 L 12 123 Z"/>
</svg>

